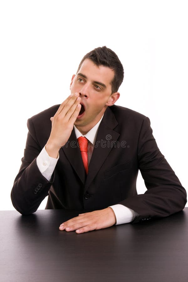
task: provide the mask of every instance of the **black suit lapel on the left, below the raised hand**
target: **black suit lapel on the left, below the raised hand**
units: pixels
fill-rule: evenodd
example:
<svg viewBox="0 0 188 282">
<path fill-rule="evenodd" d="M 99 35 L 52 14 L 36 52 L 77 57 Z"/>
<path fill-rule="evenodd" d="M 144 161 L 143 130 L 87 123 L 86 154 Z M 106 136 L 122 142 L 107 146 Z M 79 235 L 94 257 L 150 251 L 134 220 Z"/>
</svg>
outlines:
<svg viewBox="0 0 188 282">
<path fill-rule="evenodd" d="M 64 151 L 67 159 L 69 160 L 73 169 L 76 171 L 76 174 L 79 176 L 82 183 L 85 184 L 86 173 L 81 158 L 80 148 L 77 145 L 77 139 L 74 129 L 70 134 L 69 140 L 61 149 Z"/>
</svg>

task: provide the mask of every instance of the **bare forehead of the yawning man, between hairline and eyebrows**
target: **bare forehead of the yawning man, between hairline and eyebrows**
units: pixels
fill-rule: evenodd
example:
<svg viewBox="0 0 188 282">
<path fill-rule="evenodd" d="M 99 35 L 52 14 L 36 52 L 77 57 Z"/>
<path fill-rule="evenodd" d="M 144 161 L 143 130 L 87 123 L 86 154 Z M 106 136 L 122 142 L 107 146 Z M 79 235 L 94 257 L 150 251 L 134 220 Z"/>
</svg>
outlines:
<svg viewBox="0 0 188 282">
<path fill-rule="evenodd" d="M 102 82 L 106 86 L 108 84 L 111 85 L 111 81 L 114 77 L 114 71 L 112 69 L 103 65 L 97 66 L 90 59 L 83 61 L 78 72 L 84 74 L 87 79 Z"/>
</svg>

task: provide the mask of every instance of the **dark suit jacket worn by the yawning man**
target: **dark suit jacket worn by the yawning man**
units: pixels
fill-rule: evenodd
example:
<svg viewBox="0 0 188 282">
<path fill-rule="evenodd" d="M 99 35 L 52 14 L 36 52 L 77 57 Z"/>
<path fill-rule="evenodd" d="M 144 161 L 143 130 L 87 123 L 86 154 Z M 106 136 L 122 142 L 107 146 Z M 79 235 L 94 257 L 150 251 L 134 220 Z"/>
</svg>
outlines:
<svg viewBox="0 0 188 282">
<path fill-rule="evenodd" d="M 46 196 L 47 209 L 99 210 L 123 204 L 138 212 L 134 222 L 165 217 L 184 208 L 186 191 L 160 153 L 149 118 L 120 106 L 105 111 L 88 175 L 73 129 L 59 151 L 51 181 L 46 180 L 36 158 L 50 136 L 50 117 L 58 107 L 50 107 L 28 120 L 24 157 L 11 192 L 18 212 L 35 212 Z M 140 195 L 136 191 L 138 169 L 147 187 Z"/>
</svg>

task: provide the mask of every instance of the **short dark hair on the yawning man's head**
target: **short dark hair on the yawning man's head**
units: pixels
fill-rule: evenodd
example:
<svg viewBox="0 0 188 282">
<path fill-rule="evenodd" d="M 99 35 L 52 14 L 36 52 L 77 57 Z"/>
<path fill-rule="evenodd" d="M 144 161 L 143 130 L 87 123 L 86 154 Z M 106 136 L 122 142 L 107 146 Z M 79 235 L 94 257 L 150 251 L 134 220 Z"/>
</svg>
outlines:
<svg viewBox="0 0 188 282">
<path fill-rule="evenodd" d="M 106 46 L 95 48 L 83 57 L 77 72 L 80 70 L 83 61 L 86 59 L 92 60 L 97 66 L 104 65 L 114 70 L 114 78 L 111 81 L 112 93 L 117 92 L 119 86 L 122 84 L 124 71 L 123 65 L 116 53 Z"/>
</svg>

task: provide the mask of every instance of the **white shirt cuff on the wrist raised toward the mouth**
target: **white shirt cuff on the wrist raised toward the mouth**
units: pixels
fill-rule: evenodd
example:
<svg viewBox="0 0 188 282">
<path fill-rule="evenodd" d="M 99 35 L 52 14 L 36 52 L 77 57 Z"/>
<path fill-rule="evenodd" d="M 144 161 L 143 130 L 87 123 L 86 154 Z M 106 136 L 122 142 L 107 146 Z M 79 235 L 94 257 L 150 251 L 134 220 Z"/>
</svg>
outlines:
<svg viewBox="0 0 188 282">
<path fill-rule="evenodd" d="M 37 166 L 42 173 L 42 175 L 50 181 L 51 176 L 54 172 L 55 166 L 57 164 L 57 161 L 59 159 L 59 153 L 57 159 L 52 158 L 49 156 L 49 154 L 46 152 L 45 146 L 38 155 L 36 161 L 37 161 Z"/>
</svg>

